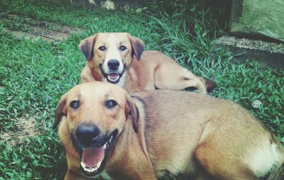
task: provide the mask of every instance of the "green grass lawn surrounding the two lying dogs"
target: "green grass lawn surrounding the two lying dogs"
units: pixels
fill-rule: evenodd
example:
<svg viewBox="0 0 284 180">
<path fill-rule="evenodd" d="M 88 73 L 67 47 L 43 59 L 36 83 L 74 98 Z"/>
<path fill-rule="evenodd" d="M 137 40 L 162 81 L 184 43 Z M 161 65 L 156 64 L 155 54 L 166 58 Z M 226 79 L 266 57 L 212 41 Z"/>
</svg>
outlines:
<svg viewBox="0 0 284 180">
<path fill-rule="evenodd" d="M 284 143 L 284 71 L 258 62 L 234 63 L 234 54 L 215 45 L 222 25 L 214 9 L 190 4 L 131 9 L 87 9 L 44 1 L 1 0 L 0 11 L 22 19 L 0 23 L 0 179 L 62 179 L 65 152 L 52 125 L 60 96 L 80 82 L 80 40 L 97 32 L 129 32 L 175 58 L 195 74 L 214 79 L 211 96 L 248 108 Z M 177 13 L 179 12 L 179 13 Z M 173 16 L 169 16 L 173 13 Z M 66 40 L 45 42 L 13 37 L 4 28 L 25 30 L 38 19 L 84 28 Z M 261 104 L 253 108 L 253 102 Z"/>
</svg>

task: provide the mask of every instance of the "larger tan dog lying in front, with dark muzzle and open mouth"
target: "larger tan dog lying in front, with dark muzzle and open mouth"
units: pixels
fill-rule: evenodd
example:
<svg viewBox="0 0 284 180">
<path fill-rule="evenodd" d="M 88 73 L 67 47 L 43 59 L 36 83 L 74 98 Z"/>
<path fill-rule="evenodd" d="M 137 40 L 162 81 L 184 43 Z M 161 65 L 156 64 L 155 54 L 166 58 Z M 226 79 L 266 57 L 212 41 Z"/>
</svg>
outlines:
<svg viewBox="0 0 284 180">
<path fill-rule="evenodd" d="M 284 150 L 249 111 L 185 91 L 129 96 L 113 84 L 75 86 L 58 103 L 65 179 L 283 179 Z"/>
</svg>

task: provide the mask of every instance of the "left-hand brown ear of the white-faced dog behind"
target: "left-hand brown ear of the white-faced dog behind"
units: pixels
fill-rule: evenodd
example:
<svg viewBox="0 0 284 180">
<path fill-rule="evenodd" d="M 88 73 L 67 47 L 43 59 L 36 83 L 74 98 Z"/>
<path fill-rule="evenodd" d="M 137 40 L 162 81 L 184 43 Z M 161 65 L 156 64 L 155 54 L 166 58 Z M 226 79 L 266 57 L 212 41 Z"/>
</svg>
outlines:
<svg viewBox="0 0 284 180">
<path fill-rule="evenodd" d="M 83 52 L 86 60 L 89 60 L 94 56 L 94 43 L 97 39 L 97 34 L 90 36 L 89 38 L 85 38 L 81 41 L 79 48 Z"/>
</svg>

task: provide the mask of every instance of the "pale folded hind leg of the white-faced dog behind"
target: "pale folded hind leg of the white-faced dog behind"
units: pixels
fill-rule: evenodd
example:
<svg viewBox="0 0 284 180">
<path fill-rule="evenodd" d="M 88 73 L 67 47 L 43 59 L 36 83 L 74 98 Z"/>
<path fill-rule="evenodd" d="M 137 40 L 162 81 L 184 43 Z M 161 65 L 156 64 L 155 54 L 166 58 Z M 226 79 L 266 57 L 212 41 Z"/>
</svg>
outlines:
<svg viewBox="0 0 284 180">
<path fill-rule="evenodd" d="M 195 87 L 200 93 L 207 94 L 208 80 L 195 76 L 185 68 L 176 66 L 177 64 L 172 64 L 172 67 L 164 65 L 155 69 L 155 87 L 157 89 L 183 90 Z"/>
</svg>

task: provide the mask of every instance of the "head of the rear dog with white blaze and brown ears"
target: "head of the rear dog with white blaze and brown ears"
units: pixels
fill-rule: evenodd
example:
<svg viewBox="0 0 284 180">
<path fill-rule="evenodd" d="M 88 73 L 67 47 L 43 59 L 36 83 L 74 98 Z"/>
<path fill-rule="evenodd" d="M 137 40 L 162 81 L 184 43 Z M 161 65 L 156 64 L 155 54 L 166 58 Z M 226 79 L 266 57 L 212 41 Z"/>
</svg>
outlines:
<svg viewBox="0 0 284 180">
<path fill-rule="evenodd" d="M 86 60 L 98 67 L 102 77 L 112 84 L 125 76 L 133 55 L 140 60 L 145 47 L 142 40 L 128 33 L 97 33 L 82 40 L 79 46 Z"/>
</svg>

